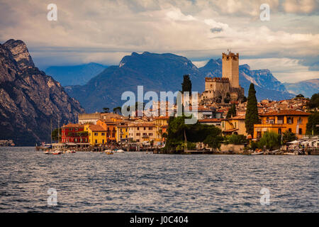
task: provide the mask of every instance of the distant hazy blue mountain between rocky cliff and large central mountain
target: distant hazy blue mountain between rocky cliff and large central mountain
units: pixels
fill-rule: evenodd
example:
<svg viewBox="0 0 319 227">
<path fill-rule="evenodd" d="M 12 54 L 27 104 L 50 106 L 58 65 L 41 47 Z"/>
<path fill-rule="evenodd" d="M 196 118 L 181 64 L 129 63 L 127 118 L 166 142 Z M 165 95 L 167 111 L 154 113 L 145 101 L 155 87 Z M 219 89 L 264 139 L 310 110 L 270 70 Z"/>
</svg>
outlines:
<svg viewBox="0 0 319 227">
<path fill-rule="evenodd" d="M 45 73 L 60 82 L 62 86 L 84 85 L 106 67 L 106 65 L 91 62 L 83 65 L 51 66 L 45 69 Z"/>
</svg>

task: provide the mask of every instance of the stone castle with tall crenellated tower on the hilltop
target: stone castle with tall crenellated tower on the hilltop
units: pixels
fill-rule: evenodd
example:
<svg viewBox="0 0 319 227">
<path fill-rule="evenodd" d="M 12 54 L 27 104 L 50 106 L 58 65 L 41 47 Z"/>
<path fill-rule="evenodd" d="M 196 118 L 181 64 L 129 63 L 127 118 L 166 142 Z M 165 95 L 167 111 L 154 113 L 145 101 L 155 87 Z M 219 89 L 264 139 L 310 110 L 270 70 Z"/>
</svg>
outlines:
<svg viewBox="0 0 319 227">
<path fill-rule="evenodd" d="M 223 53 L 223 76 L 206 77 L 205 91 L 199 95 L 200 104 L 229 103 L 242 101 L 244 89 L 239 84 L 239 53 Z"/>
</svg>

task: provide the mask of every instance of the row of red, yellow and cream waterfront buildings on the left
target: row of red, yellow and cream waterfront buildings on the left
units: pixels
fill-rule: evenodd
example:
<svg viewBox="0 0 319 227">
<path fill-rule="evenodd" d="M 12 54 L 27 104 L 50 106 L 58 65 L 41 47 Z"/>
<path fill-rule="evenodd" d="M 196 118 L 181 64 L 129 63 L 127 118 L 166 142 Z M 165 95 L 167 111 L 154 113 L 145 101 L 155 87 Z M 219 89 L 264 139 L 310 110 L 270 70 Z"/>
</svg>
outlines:
<svg viewBox="0 0 319 227">
<path fill-rule="evenodd" d="M 142 143 L 162 145 L 169 117 L 125 117 L 119 114 L 79 114 L 78 123 L 62 126 L 62 143 L 106 145 Z"/>
</svg>

